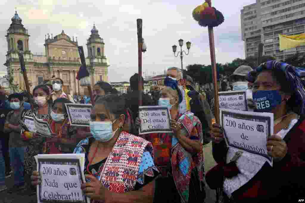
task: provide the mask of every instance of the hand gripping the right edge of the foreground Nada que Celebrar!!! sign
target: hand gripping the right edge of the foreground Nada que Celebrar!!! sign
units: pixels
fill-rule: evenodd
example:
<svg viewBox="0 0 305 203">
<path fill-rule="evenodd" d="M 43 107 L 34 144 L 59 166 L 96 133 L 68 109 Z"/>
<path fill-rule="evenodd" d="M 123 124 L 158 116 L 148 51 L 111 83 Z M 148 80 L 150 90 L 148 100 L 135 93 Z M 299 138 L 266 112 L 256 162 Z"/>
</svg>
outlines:
<svg viewBox="0 0 305 203">
<path fill-rule="evenodd" d="M 92 175 L 85 175 L 90 180 L 90 183 L 81 185 L 81 189 L 87 197 L 93 200 L 104 201 L 109 198 L 110 191 L 102 185 L 102 182 L 97 180 Z"/>
</svg>

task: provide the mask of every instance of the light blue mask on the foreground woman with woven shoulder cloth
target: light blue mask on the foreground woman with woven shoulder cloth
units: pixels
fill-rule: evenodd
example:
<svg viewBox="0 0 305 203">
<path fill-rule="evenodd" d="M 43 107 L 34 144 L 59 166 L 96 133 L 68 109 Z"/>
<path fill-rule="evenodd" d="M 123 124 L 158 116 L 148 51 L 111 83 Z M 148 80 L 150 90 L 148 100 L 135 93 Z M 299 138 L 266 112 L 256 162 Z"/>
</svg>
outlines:
<svg viewBox="0 0 305 203">
<path fill-rule="evenodd" d="M 117 120 L 117 119 L 116 119 Z M 115 121 L 116 121 L 115 120 Z M 90 132 L 95 138 L 100 142 L 108 142 L 113 138 L 115 133 L 119 128 L 114 132 L 112 131 L 112 124 L 115 122 L 91 122 L 90 121 Z"/>
</svg>

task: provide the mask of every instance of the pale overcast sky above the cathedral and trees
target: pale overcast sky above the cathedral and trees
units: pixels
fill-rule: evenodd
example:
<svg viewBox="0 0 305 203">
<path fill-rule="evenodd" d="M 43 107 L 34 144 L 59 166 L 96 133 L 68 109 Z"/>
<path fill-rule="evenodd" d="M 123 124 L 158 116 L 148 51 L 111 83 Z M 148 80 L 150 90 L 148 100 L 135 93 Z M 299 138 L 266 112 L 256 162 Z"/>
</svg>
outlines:
<svg viewBox="0 0 305 203">
<path fill-rule="evenodd" d="M 95 23 L 104 39 L 105 55 L 109 60 L 109 81 L 129 81 L 138 72 L 138 44 L 136 19 L 143 19 L 143 38 L 147 52 L 143 54 L 143 72 L 162 74 L 170 66 L 181 67 L 180 58 L 175 58 L 172 45 L 178 40 L 192 42 L 190 53 L 184 57 L 183 65 L 210 64 L 210 48 L 207 28 L 203 28 L 192 17 L 192 10 L 203 2 L 198 0 L 102 0 L 87 3 L 87 0 L 1 0 L 0 71 L 6 70 L 6 30 L 9 28 L 15 7 L 22 24 L 30 34 L 29 47 L 34 54 L 43 52 L 45 35 L 53 37 L 62 30 L 78 38 L 84 46 Z M 91 1 L 92 2 L 92 1 Z M 255 0 L 212 0 L 212 5 L 224 14 L 224 23 L 214 28 L 216 61 L 231 62 L 244 58 L 241 40 L 240 10 Z M 87 53 L 85 53 L 87 54 Z M 145 76 L 145 73 L 143 73 Z"/>
</svg>

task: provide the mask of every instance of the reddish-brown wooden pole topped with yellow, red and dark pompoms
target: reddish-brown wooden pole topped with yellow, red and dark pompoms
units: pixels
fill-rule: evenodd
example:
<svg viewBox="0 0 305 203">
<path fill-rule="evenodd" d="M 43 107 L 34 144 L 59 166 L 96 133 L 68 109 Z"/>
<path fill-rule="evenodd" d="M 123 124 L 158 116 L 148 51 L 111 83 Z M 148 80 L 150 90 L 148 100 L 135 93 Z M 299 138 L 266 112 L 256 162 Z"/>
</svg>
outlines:
<svg viewBox="0 0 305 203">
<path fill-rule="evenodd" d="M 211 0 L 208 2 L 212 7 Z M 211 65 L 213 73 L 213 85 L 214 85 L 214 105 L 215 105 L 215 120 L 217 124 L 220 124 L 219 120 L 219 101 L 218 101 L 218 87 L 217 87 L 217 69 L 216 69 L 216 58 L 215 58 L 215 42 L 214 42 L 214 31 L 213 27 L 208 27 L 209 31 L 209 42 L 210 42 L 210 54 L 211 54 Z"/>
</svg>

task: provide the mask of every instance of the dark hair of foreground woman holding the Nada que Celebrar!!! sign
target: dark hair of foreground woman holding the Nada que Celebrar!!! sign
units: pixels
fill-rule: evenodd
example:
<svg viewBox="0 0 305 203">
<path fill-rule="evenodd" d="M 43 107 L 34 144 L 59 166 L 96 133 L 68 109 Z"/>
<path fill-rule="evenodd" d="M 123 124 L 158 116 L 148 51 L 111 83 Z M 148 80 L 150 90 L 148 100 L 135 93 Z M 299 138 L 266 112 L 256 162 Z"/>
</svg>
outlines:
<svg viewBox="0 0 305 203">
<path fill-rule="evenodd" d="M 127 118 L 127 107 L 126 100 L 124 96 L 119 96 L 117 94 L 108 94 L 100 97 L 95 101 L 96 104 L 103 104 L 110 114 L 113 114 L 115 118 L 118 118 L 120 115 L 124 114 Z"/>
</svg>

